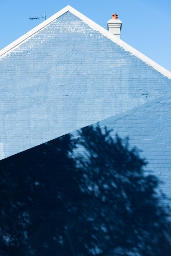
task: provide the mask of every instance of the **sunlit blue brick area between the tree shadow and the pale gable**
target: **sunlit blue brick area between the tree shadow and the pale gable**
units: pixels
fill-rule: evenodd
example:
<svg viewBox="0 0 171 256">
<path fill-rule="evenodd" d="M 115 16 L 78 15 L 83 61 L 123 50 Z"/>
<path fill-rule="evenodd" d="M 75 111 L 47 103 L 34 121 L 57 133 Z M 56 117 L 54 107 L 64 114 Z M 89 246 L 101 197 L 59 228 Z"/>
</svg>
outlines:
<svg viewBox="0 0 171 256">
<path fill-rule="evenodd" d="M 114 139 L 116 133 L 122 139 L 128 137 L 130 146 L 136 146 L 140 156 L 147 160 L 147 172 L 156 175 L 162 181 L 160 187 L 168 197 L 171 196 L 170 113 L 171 94 L 168 94 L 93 124 L 94 129 L 97 125 L 102 131 L 105 130 L 104 127 L 112 129 L 111 136 Z M 77 137 L 78 131 L 75 131 L 72 136 Z M 78 148 L 77 152 L 82 154 L 82 147 Z M 170 201 L 167 203 L 170 204 Z"/>
</svg>

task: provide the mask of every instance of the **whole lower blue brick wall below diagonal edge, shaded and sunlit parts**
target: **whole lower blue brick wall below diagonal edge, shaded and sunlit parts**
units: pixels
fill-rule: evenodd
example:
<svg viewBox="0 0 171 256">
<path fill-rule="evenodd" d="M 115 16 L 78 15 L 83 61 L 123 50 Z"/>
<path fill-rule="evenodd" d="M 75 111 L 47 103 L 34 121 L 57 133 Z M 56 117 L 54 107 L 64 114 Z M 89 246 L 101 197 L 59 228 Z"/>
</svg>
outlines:
<svg viewBox="0 0 171 256">
<path fill-rule="evenodd" d="M 1 252 L 169 256 L 170 200 L 156 199 L 155 177 L 170 198 L 170 113 L 168 94 L 2 160 Z M 129 137 L 149 172 L 138 173 L 137 159 L 128 164 L 98 127 Z"/>
</svg>

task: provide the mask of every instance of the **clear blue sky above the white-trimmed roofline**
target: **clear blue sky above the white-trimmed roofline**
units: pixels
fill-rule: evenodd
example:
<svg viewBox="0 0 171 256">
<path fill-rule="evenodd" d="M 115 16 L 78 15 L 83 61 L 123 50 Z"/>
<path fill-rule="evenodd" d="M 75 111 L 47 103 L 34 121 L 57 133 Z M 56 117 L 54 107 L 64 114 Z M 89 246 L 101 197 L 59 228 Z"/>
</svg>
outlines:
<svg viewBox="0 0 171 256">
<path fill-rule="evenodd" d="M 107 28 L 111 14 L 122 20 L 121 39 L 171 71 L 170 0 L 0 0 L 0 49 L 67 5 Z"/>
</svg>

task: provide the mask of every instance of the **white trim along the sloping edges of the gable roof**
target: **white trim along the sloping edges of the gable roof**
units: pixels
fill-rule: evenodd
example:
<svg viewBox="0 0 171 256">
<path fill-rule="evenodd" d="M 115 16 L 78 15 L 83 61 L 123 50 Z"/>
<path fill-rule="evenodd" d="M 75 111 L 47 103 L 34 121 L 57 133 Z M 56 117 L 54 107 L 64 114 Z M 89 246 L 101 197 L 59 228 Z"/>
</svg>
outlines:
<svg viewBox="0 0 171 256">
<path fill-rule="evenodd" d="M 171 72 L 169 72 L 168 70 L 164 69 L 163 67 L 158 65 L 155 61 L 153 61 L 152 59 L 149 59 L 148 57 L 146 57 L 144 54 L 140 53 L 139 51 L 137 51 L 133 47 L 127 45 L 124 41 L 122 41 L 121 39 L 117 38 L 115 35 L 111 34 L 108 30 L 105 30 L 104 28 L 102 28 L 101 26 L 99 26 L 98 24 L 93 22 L 91 19 L 89 19 L 88 17 L 84 16 L 83 14 L 81 14 L 80 12 L 78 12 L 77 10 L 75 10 L 74 8 L 72 8 L 69 5 L 66 6 L 65 8 L 63 8 L 62 10 L 60 10 L 59 12 L 57 12 L 56 14 L 54 14 L 53 16 L 51 16 L 50 18 L 48 18 L 47 20 L 45 20 L 45 22 L 42 22 L 40 25 L 38 25 L 34 29 L 30 30 L 25 35 L 19 37 L 17 40 L 12 42 L 12 44 L 10 44 L 7 47 L 5 47 L 4 49 L 2 49 L 0 51 L 0 57 L 3 56 L 5 53 L 8 53 L 10 50 L 15 48 L 19 44 L 21 44 L 24 40 L 26 40 L 27 38 L 31 37 L 32 35 L 37 33 L 39 30 L 41 30 L 42 28 L 46 27 L 47 25 L 52 23 L 55 19 L 57 19 L 58 17 L 60 17 L 61 15 L 63 15 L 64 13 L 66 13 L 68 11 L 70 11 L 75 16 L 77 16 L 80 19 L 82 19 L 82 21 L 84 23 L 87 23 L 91 28 L 99 31 L 101 34 L 103 34 L 106 37 L 110 38 L 112 41 L 116 42 L 116 44 L 118 44 L 119 46 L 123 47 L 126 51 L 131 52 L 133 55 L 135 55 L 139 59 L 143 60 L 148 65 L 152 66 L 154 69 L 156 69 L 157 71 L 162 73 L 164 76 L 167 76 L 168 78 L 171 79 Z"/>
</svg>

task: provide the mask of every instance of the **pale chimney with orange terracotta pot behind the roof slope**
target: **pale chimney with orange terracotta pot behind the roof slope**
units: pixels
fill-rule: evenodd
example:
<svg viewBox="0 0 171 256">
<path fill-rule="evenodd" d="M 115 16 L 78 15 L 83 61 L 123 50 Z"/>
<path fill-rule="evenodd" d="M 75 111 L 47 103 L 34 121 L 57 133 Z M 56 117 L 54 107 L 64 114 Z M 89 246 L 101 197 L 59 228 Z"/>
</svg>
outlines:
<svg viewBox="0 0 171 256">
<path fill-rule="evenodd" d="M 117 36 L 120 39 L 120 31 L 122 28 L 122 22 L 118 19 L 118 15 L 116 13 L 112 14 L 112 19 L 108 22 L 108 30 L 113 35 Z"/>
</svg>

